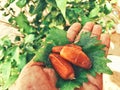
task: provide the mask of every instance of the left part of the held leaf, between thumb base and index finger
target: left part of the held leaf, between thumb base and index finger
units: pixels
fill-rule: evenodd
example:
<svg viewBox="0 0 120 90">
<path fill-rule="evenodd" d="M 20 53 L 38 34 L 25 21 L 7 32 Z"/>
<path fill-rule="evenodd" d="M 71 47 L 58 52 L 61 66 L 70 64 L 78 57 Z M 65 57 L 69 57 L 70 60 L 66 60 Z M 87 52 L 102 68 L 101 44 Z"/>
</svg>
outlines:
<svg viewBox="0 0 120 90">
<path fill-rule="evenodd" d="M 41 48 L 33 57 L 33 60 L 42 61 L 49 66 L 50 62 L 48 55 L 50 54 L 52 47 L 56 45 L 65 45 L 67 43 L 69 43 L 69 41 L 66 37 L 66 32 L 60 29 L 52 28 L 49 31 L 49 34 L 47 34 L 45 41 L 42 43 Z"/>
</svg>

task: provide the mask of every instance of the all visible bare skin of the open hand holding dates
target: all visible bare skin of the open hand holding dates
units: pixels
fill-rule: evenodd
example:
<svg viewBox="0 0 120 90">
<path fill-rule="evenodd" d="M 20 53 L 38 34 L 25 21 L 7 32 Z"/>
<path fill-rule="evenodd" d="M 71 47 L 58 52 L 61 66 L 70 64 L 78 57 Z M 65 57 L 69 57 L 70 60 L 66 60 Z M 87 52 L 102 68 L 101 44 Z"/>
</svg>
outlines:
<svg viewBox="0 0 120 90">
<path fill-rule="evenodd" d="M 108 34 L 101 34 L 102 28 L 93 22 L 87 22 L 81 29 L 80 23 L 74 23 L 67 31 L 67 38 L 70 42 L 77 42 L 81 32 L 91 32 L 91 36 L 97 36 L 106 45 L 106 55 L 110 46 Z M 102 90 L 102 74 L 96 77 L 87 75 L 88 82 L 76 90 Z M 41 62 L 31 60 L 21 71 L 16 82 L 9 90 L 57 90 L 55 71 L 51 68 L 43 67 Z"/>
</svg>

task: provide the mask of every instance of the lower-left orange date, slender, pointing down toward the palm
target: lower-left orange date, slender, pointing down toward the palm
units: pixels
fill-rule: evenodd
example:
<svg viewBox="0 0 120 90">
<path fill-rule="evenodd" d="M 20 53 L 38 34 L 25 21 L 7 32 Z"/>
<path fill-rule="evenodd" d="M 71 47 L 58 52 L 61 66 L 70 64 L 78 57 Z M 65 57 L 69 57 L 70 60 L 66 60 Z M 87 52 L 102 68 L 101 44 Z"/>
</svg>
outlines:
<svg viewBox="0 0 120 90">
<path fill-rule="evenodd" d="M 72 65 L 68 61 L 64 60 L 59 54 L 51 53 L 49 55 L 49 59 L 60 77 L 65 80 L 75 79 Z"/>
</svg>

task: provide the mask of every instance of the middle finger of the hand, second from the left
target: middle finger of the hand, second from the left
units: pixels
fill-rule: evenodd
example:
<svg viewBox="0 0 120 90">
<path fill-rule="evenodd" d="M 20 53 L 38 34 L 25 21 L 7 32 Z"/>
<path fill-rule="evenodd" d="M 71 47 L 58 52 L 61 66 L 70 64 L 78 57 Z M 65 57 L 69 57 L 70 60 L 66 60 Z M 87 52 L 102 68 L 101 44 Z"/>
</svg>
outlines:
<svg viewBox="0 0 120 90">
<path fill-rule="evenodd" d="M 83 28 L 82 28 L 82 30 L 80 31 L 80 33 L 78 34 L 78 36 L 76 37 L 75 42 L 78 42 L 78 41 L 79 41 L 79 39 L 80 39 L 80 34 L 81 34 L 82 32 L 91 32 L 92 29 L 93 29 L 93 26 L 94 26 L 94 23 L 93 23 L 93 22 L 87 22 L 87 23 L 83 26 Z"/>
</svg>

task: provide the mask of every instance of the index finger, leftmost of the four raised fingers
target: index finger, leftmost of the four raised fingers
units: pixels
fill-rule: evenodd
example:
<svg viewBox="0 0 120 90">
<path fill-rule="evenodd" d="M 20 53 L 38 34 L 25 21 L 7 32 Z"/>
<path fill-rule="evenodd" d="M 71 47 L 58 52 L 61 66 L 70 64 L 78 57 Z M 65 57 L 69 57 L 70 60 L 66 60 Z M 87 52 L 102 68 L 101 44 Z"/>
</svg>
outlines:
<svg viewBox="0 0 120 90">
<path fill-rule="evenodd" d="M 67 38 L 69 39 L 70 42 L 73 42 L 74 39 L 76 38 L 76 35 L 79 33 L 81 28 L 80 23 L 74 23 L 67 31 Z"/>
</svg>

